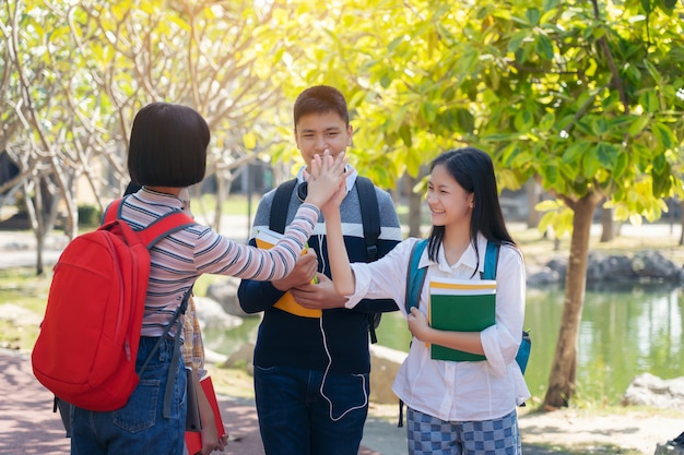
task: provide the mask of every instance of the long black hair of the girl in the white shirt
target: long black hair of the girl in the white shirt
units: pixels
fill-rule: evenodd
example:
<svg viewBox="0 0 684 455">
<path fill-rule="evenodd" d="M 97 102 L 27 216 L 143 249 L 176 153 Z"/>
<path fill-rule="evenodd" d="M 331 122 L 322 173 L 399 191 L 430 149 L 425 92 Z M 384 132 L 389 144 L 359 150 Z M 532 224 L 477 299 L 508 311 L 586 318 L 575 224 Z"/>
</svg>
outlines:
<svg viewBox="0 0 684 455">
<path fill-rule="evenodd" d="M 498 201 L 494 164 L 490 155 L 475 147 L 450 149 L 431 163 L 431 172 L 436 166 L 444 166 L 463 190 L 473 194 L 470 241 L 475 252 L 477 252 L 477 232 L 497 244 L 515 244 L 504 220 Z M 428 258 L 432 261 L 437 261 L 444 232 L 444 226 L 433 226 L 427 247 Z"/>
</svg>

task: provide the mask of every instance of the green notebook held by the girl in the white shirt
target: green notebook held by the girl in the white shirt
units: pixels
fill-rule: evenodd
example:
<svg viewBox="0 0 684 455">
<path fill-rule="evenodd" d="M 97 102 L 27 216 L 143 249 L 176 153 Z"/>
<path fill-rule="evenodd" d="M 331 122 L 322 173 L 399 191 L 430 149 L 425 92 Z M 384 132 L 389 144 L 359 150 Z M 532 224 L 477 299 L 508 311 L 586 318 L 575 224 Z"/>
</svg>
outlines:
<svg viewBox="0 0 684 455">
<path fill-rule="evenodd" d="M 496 322 L 496 282 L 433 278 L 429 284 L 429 325 L 453 332 L 482 332 Z M 477 361 L 484 356 L 431 345 L 434 360 Z"/>
</svg>

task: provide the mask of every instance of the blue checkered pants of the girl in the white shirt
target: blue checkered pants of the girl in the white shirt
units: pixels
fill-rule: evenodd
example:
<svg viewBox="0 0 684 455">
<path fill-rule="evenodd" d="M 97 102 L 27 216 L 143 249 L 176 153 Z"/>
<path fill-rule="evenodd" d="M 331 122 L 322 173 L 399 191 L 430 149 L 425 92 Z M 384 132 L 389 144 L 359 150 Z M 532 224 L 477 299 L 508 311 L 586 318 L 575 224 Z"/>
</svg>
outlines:
<svg viewBox="0 0 684 455">
<path fill-rule="evenodd" d="M 408 408 L 409 455 L 521 455 L 516 410 L 500 419 L 448 422 Z"/>
</svg>

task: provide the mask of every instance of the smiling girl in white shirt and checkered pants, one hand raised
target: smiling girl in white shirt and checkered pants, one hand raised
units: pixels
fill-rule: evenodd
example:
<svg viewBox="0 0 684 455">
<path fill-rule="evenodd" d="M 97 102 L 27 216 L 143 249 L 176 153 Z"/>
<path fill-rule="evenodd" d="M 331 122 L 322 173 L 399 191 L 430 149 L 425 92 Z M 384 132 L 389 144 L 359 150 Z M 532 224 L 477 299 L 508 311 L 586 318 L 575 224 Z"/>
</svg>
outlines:
<svg viewBox="0 0 684 455">
<path fill-rule="evenodd" d="M 475 286 L 483 280 L 487 243 L 499 246 L 493 323 L 482 331 L 431 326 L 431 286 L 423 286 L 417 307 L 406 307 L 406 271 L 418 239 L 404 240 L 377 262 L 350 265 L 335 205 L 340 199 L 337 194 L 322 207 L 335 289 L 347 297 L 347 308 L 363 298 L 393 299 L 413 334 L 392 385 L 408 406 L 409 454 L 521 454 L 517 406 L 530 397 L 516 362 L 524 319 L 524 262 L 504 221 L 491 157 L 467 147 L 433 160 L 426 194 L 433 227 L 418 263 L 427 267 L 426 284 L 458 279 Z M 484 360 L 436 359 L 432 345 Z"/>
</svg>

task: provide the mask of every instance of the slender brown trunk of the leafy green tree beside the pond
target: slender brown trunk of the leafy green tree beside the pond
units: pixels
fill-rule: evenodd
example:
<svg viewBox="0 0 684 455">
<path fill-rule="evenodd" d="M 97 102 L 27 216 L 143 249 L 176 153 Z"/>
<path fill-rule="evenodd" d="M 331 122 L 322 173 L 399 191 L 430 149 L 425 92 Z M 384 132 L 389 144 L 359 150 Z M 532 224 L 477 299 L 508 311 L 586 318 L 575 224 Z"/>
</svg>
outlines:
<svg viewBox="0 0 684 455">
<path fill-rule="evenodd" d="M 556 343 L 556 352 L 549 378 L 544 409 L 566 407 L 575 395 L 577 376 L 577 340 L 587 285 L 587 261 L 593 212 L 601 201 L 595 193 L 569 203 L 574 212 L 570 255 L 565 277 L 563 320 Z"/>
</svg>

